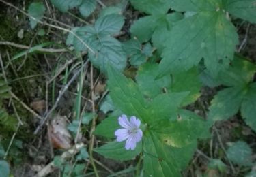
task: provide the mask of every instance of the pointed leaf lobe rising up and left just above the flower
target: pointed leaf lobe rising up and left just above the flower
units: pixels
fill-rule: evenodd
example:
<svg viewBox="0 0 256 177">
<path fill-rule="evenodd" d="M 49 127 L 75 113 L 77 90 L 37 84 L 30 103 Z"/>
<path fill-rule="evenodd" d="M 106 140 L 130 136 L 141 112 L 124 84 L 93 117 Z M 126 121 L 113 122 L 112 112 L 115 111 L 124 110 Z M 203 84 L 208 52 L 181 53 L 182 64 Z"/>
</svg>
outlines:
<svg viewBox="0 0 256 177">
<path fill-rule="evenodd" d="M 142 120 L 147 118 L 147 105 L 137 84 L 113 67 L 109 67 L 108 75 L 109 94 L 115 106 L 128 116 L 136 116 Z"/>
</svg>

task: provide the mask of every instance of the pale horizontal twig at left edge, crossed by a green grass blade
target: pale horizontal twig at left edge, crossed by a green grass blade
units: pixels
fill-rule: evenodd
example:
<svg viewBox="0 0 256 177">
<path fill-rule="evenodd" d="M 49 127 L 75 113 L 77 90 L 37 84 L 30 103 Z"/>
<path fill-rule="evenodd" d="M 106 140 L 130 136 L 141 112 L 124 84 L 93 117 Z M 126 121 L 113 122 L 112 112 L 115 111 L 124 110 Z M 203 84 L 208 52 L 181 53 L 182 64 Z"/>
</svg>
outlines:
<svg viewBox="0 0 256 177">
<path fill-rule="evenodd" d="M 29 49 L 29 46 L 25 46 L 23 44 L 16 44 L 14 42 L 8 42 L 8 41 L 0 41 L 0 45 L 5 46 L 13 46 L 16 48 L 23 48 L 23 49 Z M 39 52 L 49 52 L 49 53 L 57 53 L 57 52 L 66 52 L 65 48 L 38 48 L 36 49 Z"/>
</svg>

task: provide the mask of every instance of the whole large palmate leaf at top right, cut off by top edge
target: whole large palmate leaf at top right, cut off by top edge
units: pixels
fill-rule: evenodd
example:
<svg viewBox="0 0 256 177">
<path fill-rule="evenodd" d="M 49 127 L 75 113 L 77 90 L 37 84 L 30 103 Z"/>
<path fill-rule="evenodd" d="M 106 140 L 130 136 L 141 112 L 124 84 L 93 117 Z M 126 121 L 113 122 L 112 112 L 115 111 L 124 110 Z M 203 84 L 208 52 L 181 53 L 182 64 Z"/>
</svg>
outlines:
<svg viewBox="0 0 256 177">
<path fill-rule="evenodd" d="M 238 44 L 236 29 L 223 11 L 244 20 L 256 21 L 253 0 L 172 0 L 171 7 L 197 14 L 177 22 L 169 33 L 159 77 L 182 68 L 189 69 L 202 58 L 207 69 L 216 76 L 228 67 Z"/>
</svg>

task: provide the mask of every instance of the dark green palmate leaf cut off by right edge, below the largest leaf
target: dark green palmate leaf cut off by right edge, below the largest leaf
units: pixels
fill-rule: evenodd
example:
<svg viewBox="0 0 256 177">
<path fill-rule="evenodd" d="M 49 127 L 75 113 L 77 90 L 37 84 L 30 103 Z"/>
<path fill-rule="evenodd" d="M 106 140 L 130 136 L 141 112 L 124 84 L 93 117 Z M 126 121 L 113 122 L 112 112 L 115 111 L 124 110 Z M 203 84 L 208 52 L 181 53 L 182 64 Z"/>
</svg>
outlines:
<svg viewBox="0 0 256 177">
<path fill-rule="evenodd" d="M 231 67 L 219 74 L 221 84 L 230 87 L 219 91 L 212 100 L 208 114 L 211 120 L 225 120 L 241 110 L 246 124 L 256 131 L 256 84 L 251 83 L 255 72 L 253 63 L 237 55 Z"/>
</svg>

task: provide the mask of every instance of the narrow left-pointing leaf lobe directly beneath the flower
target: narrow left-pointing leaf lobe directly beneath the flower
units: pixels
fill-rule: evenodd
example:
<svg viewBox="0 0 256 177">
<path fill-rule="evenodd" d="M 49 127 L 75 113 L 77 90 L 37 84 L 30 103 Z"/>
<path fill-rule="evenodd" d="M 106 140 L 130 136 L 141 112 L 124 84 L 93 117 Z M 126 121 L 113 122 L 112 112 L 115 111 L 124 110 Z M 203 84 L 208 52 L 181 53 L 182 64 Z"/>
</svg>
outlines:
<svg viewBox="0 0 256 177">
<path fill-rule="evenodd" d="M 101 146 L 100 148 L 94 149 L 100 155 L 103 155 L 106 158 L 111 158 L 115 160 L 127 161 L 134 159 L 141 152 L 141 142 L 137 143 L 137 146 L 134 150 L 126 150 L 124 148 L 125 142 L 109 142 Z"/>
</svg>

